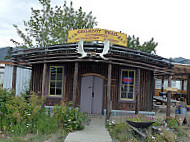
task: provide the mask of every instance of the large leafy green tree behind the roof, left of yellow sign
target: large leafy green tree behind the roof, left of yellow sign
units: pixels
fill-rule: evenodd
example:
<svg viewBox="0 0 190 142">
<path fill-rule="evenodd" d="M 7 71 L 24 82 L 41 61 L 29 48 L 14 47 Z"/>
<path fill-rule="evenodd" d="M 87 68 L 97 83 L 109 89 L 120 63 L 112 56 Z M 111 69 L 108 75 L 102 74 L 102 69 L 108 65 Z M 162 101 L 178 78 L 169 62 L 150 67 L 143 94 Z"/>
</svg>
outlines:
<svg viewBox="0 0 190 142">
<path fill-rule="evenodd" d="M 11 39 L 17 47 L 36 48 L 63 44 L 67 41 L 68 30 L 93 28 L 97 25 L 92 12 L 83 12 L 82 7 L 75 11 L 72 2 L 67 6 L 65 0 L 63 6 L 55 7 L 51 6 L 51 0 L 39 0 L 39 3 L 43 8 L 31 8 L 29 21 L 24 21 L 25 32 L 13 25 L 23 40 L 23 43 L 19 43 Z"/>
</svg>

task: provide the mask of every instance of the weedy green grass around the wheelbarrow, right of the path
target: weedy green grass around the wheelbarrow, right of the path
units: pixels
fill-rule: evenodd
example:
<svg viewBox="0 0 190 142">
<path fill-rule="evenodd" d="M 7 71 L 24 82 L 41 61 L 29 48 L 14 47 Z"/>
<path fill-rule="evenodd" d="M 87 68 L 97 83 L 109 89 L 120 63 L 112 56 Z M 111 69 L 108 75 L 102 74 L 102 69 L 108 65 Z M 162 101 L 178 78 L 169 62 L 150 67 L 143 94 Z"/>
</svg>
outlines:
<svg viewBox="0 0 190 142">
<path fill-rule="evenodd" d="M 119 124 L 106 124 L 110 136 L 114 142 L 188 142 L 190 141 L 190 127 L 180 126 L 173 129 L 168 129 L 162 127 L 162 121 L 158 119 L 155 123 L 156 126 L 161 126 L 161 131 L 150 132 L 152 133 L 152 138 L 142 138 L 138 133 L 133 131 L 129 125 L 125 122 Z M 150 128 L 151 129 L 151 128 Z"/>
</svg>

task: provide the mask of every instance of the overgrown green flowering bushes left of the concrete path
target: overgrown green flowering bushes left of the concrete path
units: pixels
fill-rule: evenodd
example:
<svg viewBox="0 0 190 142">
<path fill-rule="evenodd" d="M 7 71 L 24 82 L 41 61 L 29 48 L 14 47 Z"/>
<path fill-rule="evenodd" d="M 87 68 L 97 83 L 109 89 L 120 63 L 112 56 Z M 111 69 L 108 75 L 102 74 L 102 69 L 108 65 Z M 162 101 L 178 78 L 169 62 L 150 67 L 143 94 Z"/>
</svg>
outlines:
<svg viewBox="0 0 190 142">
<path fill-rule="evenodd" d="M 43 98 L 14 96 L 14 92 L 0 88 L 0 131 L 10 135 L 50 134 L 64 128 L 67 132 L 83 129 L 87 116 L 71 103 L 56 106 L 52 114 L 42 107 Z"/>
</svg>

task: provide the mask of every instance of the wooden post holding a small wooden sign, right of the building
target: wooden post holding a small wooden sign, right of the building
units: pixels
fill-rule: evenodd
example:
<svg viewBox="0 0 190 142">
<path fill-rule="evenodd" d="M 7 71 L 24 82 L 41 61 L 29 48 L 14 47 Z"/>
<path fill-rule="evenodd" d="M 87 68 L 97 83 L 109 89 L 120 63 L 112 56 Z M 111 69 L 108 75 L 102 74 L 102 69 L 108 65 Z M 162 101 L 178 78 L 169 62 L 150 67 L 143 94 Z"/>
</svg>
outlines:
<svg viewBox="0 0 190 142">
<path fill-rule="evenodd" d="M 171 75 L 168 76 L 168 87 L 172 86 L 172 77 Z M 166 116 L 170 116 L 171 111 L 171 91 L 167 92 L 167 108 L 166 108 Z"/>
</svg>

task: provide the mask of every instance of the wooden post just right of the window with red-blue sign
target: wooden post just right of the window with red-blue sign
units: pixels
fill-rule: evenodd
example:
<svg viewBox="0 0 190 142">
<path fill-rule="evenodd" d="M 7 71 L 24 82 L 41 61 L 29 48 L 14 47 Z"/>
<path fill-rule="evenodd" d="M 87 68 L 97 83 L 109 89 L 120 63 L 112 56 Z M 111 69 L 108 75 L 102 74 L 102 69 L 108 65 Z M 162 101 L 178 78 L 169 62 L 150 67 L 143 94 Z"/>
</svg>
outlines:
<svg viewBox="0 0 190 142">
<path fill-rule="evenodd" d="M 135 114 L 139 113 L 139 104 L 140 104 L 140 69 L 137 69 L 137 84 L 136 84 L 136 107 L 135 107 Z"/>
</svg>

